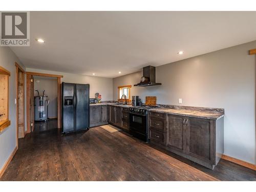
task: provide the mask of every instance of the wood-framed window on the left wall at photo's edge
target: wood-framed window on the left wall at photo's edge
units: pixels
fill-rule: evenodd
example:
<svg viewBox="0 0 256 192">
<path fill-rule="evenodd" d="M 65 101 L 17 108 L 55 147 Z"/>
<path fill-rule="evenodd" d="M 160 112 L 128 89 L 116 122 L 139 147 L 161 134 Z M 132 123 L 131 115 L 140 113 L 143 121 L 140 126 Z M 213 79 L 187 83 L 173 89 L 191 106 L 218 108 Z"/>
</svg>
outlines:
<svg viewBox="0 0 256 192">
<path fill-rule="evenodd" d="M 9 76 L 10 72 L 0 67 L 0 132 L 11 124 L 8 109 Z"/>
</svg>

